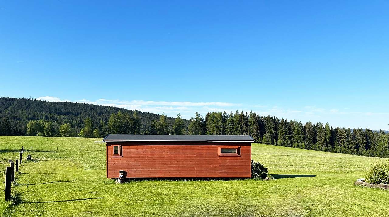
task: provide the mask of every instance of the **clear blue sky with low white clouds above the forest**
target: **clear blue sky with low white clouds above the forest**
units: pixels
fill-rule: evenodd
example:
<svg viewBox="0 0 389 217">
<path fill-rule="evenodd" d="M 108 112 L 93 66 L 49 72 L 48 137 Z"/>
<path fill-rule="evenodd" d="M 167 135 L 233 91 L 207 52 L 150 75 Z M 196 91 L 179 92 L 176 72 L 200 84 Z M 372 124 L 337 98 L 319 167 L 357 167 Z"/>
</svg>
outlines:
<svg viewBox="0 0 389 217">
<path fill-rule="evenodd" d="M 0 1 L 0 96 L 389 129 L 388 1 Z"/>
</svg>

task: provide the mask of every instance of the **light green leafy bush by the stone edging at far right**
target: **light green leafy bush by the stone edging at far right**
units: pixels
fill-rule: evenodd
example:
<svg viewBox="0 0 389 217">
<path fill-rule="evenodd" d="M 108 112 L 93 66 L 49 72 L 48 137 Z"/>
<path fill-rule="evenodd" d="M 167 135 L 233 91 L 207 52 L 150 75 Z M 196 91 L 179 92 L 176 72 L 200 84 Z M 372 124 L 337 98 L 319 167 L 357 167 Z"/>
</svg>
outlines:
<svg viewBox="0 0 389 217">
<path fill-rule="evenodd" d="M 389 161 L 375 161 L 366 174 L 365 182 L 370 184 L 389 184 Z"/>
</svg>

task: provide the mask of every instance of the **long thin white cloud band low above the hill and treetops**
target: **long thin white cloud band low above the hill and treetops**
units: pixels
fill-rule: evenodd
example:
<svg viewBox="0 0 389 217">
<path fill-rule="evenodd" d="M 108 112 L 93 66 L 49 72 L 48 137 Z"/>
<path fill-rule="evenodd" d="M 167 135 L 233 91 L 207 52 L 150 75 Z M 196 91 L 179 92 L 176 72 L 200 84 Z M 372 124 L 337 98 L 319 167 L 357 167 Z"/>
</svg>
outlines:
<svg viewBox="0 0 389 217">
<path fill-rule="evenodd" d="M 300 108 L 284 108 L 272 105 L 248 105 L 231 102 L 192 102 L 192 101 L 151 101 L 151 100 L 68 100 L 55 96 L 41 96 L 39 100 L 46 101 L 69 101 L 77 103 L 89 103 L 95 105 L 114 106 L 130 110 L 140 110 L 162 114 L 165 112 L 169 117 L 175 117 L 178 113 L 185 119 L 190 119 L 199 112 L 206 115 L 207 112 L 226 111 L 235 113 L 236 110 L 243 112 L 256 112 L 258 115 L 271 115 L 279 118 L 296 121 L 329 122 L 331 126 L 359 128 L 369 126 L 374 129 L 385 129 L 386 124 L 375 124 L 372 120 L 388 117 L 389 112 L 357 111 L 346 108 L 320 108 L 315 105 L 307 105 Z"/>
</svg>

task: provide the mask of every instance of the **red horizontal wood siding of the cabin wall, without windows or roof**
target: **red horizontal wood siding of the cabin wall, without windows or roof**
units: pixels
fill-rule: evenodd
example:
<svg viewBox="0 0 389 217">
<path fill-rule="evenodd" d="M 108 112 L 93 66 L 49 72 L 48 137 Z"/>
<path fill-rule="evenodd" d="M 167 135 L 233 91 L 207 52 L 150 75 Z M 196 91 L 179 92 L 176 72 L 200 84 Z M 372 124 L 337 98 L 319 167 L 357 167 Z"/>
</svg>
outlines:
<svg viewBox="0 0 389 217">
<path fill-rule="evenodd" d="M 121 144 L 123 157 L 112 156 Z M 239 146 L 240 156 L 218 156 L 219 147 Z M 128 178 L 249 178 L 249 142 L 121 142 L 107 143 L 107 177 L 119 170 Z"/>
</svg>

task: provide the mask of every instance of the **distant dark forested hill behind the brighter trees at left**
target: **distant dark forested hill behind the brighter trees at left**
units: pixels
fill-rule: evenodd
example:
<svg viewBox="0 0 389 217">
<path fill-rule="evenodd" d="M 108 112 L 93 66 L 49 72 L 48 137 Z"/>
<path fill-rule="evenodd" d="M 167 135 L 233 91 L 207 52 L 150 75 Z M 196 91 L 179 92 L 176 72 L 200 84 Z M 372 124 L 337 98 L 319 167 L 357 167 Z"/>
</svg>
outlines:
<svg viewBox="0 0 389 217">
<path fill-rule="evenodd" d="M 101 120 L 107 122 L 112 113 L 125 112 L 130 115 L 133 110 L 124 108 L 92 105 L 86 103 L 72 102 L 52 102 L 28 98 L 9 98 L 0 97 L 0 119 L 8 119 L 12 126 L 12 134 L 25 135 L 27 123 L 31 120 L 52 121 L 54 128 L 58 129 L 61 124 L 68 123 L 76 132 L 84 127 L 84 120 L 91 118 L 97 125 Z M 148 112 L 137 111 L 141 121 L 141 127 L 147 129 L 151 126 L 152 121 L 158 120 L 161 115 Z M 175 118 L 166 117 L 171 128 Z M 183 120 L 185 126 L 189 124 L 188 120 Z"/>
</svg>

